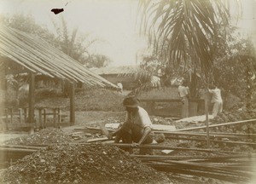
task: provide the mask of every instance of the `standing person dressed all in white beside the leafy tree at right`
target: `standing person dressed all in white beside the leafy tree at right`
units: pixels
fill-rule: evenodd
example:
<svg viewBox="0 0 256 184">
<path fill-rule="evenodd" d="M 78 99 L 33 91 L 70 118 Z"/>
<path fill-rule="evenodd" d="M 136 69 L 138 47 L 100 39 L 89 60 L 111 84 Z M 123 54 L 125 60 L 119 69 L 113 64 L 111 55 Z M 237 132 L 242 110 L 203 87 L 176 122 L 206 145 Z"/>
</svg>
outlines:
<svg viewBox="0 0 256 184">
<path fill-rule="evenodd" d="M 221 97 L 221 91 L 215 85 L 210 86 L 210 89 L 208 90 L 212 94 L 211 102 L 214 103 L 212 108 L 212 116 L 216 117 L 218 112 L 222 112 L 223 110 L 223 101 Z"/>
</svg>

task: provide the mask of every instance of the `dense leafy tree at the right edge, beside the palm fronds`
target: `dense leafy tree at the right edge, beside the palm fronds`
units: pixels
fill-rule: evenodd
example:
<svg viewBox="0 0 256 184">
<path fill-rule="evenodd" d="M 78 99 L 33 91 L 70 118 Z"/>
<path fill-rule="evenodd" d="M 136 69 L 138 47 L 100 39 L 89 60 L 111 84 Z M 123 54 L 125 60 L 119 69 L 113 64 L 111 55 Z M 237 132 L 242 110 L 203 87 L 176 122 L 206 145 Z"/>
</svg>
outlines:
<svg viewBox="0 0 256 184">
<path fill-rule="evenodd" d="M 213 77 L 224 95 L 232 93 L 243 100 L 251 99 L 256 84 L 254 52 L 251 39 L 239 36 L 234 29 L 219 44 L 213 63 Z"/>
</svg>

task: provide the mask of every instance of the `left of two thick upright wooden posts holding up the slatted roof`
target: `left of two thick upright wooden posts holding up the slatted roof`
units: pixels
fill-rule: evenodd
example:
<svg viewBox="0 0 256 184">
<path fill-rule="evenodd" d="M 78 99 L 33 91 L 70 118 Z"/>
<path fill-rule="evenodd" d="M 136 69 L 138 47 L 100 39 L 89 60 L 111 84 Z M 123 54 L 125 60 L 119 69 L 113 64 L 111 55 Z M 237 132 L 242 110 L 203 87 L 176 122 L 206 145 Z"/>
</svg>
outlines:
<svg viewBox="0 0 256 184">
<path fill-rule="evenodd" d="M 35 108 L 35 73 L 30 73 L 29 95 L 28 95 L 28 123 L 34 123 L 34 108 Z"/>
</svg>

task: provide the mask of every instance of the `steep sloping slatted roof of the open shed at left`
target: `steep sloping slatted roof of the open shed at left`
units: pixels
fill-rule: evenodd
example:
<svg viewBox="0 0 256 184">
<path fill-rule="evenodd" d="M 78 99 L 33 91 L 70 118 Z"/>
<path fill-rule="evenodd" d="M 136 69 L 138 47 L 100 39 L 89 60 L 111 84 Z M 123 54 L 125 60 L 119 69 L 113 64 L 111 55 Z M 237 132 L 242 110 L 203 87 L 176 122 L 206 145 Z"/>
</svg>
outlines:
<svg viewBox="0 0 256 184">
<path fill-rule="evenodd" d="M 41 73 L 50 78 L 116 87 L 42 38 L 3 25 L 0 25 L 0 56 L 15 61 L 28 72 Z"/>
</svg>

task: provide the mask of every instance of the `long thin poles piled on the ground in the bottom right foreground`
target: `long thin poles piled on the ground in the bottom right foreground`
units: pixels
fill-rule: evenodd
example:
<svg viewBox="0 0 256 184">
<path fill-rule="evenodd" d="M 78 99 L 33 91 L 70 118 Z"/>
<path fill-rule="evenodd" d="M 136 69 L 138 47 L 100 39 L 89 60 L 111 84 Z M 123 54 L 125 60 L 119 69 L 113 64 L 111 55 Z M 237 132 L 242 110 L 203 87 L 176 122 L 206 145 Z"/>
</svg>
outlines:
<svg viewBox="0 0 256 184">
<path fill-rule="evenodd" d="M 116 146 L 129 147 L 127 144 Z M 211 153 L 211 155 L 208 154 L 209 156 L 200 154 L 192 156 L 132 155 L 132 157 L 140 158 L 143 164 L 147 164 L 156 170 L 171 172 L 172 174 L 196 175 L 234 183 L 247 183 L 252 180 L 256 172 L 255 153 L 224 152 L 218 149 L 162 147 L 158 145 L 145 145 L 142 148 Z"/>
</svg>

